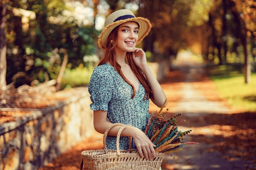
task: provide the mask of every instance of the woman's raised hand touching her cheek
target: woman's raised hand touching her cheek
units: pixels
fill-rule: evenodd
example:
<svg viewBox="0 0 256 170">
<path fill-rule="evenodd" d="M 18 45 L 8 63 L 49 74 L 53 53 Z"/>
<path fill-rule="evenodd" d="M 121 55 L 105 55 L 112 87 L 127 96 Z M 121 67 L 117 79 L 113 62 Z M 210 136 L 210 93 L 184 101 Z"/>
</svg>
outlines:
<svg viewBox="0 0 256 170">
<path fill-rule="evenodd" d="M 134 48 L 132 51 L 132 59 L 141 69 L 147 65 L 146 53 L 142 49 Z"/>
</svg>

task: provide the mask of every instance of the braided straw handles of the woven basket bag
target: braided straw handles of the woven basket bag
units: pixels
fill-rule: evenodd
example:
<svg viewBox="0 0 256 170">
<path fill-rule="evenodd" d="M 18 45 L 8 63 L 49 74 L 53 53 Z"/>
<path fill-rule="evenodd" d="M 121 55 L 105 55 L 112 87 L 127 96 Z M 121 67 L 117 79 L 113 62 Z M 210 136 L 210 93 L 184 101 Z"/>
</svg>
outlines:
<svg viewBox="0 0 256 170">
<path fill-rule="evenodd" d="M 107 136 L 108 136 L 108 132 L 110 131 L 111 128 L 113 128 L 113 127 L 115 127 L 115 126 L 122 126 L 122 127 L 124 126 L 124 128 L 126 128 L 126 127 L 128 127 L 128 126 L 132 127 L 131 125 L 124 125 L 124 124 L 120 124 L 120 123 L 110 124 L 110 125 L 108 126 L 108 128 L 105 130 L 105 133 L 104 133 L 104 135 L 103 135 L 103 148 L 104 148 L 104 150 L 106 150 L 106 153 L 108 152 L 108 148 L 107 148 L 107 144 L 106 144 L 106 139 L 107 139 Z M 122 127 L 121 127 L 121 128 L 122 128 Z M 120 129 L 121 129 L 121 128 L 120 128 Z M 123 128 L 123 129 L 124 129 L 124 128 Z M 120 129 L 119 129 L 119 131 L 120 131 Z M 122 130 L 123 130 L 123 129 L 122 129 Z M 120 133 L 119 133 L 119 131 L 118 131 L 118 133 L 117 133 L 117 142 L 118 142 L 118 143 L 116 143 L 116 144 L 118 144 L 119 155 L 120 155 L 119 140 L 120 140 L 120 135 L 121 135 L 122 130 L 120 131 Z M 129 151 L 132 152 L 132 137 L 129 137 Z"/>
</svg>

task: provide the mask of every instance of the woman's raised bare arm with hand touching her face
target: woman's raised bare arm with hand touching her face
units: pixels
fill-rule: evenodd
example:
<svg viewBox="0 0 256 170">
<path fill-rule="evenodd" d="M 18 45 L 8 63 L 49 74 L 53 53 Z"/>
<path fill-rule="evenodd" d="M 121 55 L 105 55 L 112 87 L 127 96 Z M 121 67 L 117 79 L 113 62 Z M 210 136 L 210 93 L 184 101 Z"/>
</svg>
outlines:
<svg viewBox="0 0 256 170">
<path fill-rule="evenodd" d="M 157 82 L 157 79 L 155 79 L 150 68 L 148 67 L 148 64 L 146 62 L 145 52 L 142 49 L 135 48 L 133 50 L 132 57 L 135 64 L 143 71 L 144 75 L 146 76 L 146 79 L 148 80 L 150 88 L 153 91 L 153 97 L 150 97 L 150 99 L 155 105 L 157 105 L 160 108 L 162 104 L 164 104 L 166 95 L 162 87 L 160 86 L 160 84 Z M 167 102 L 165 106 L 166 105 L 167 105 Z"/>
</svg>

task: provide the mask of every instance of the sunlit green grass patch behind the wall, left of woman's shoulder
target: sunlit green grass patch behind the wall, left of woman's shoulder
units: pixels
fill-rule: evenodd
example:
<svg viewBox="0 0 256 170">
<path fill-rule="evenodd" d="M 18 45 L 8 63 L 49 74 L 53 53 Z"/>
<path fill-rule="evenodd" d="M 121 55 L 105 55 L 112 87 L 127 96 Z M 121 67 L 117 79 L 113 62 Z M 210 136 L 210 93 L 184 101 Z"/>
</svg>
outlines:
<svg viewBox="0 0 256 170">
<path fill-rule="evenodd" d="M 93 66 L 90 66 L 89 68 L 80 66 L 74 69 L 66 68 L 61 82 L 62 88 L 88 85 L 93 69 Z"/>
</svg>

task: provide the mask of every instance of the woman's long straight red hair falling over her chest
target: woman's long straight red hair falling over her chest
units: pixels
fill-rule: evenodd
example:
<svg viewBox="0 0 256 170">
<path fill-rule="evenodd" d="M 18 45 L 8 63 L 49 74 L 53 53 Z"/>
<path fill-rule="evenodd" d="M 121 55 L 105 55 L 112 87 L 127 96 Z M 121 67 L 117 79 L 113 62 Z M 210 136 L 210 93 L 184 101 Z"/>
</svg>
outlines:
<svg viewBox="0 0 256 170">
<path fill-rule="evenodd" d="M 121 77 L 124 79 L 126 83 L 128 83 L 130 86 L 132 86 L 133 93 L 132 98 L 135 97 L 135 87 L 132 85 L 132 83 L 126 79 L 124 76 L 124 73 L 121 71 L 121 66 L 117 62 L 117 58 L 115 56 L 115 46 L 117 45 L 117 32 L 118 32 L 118 26 L 113 29 L 113 31 L 110 33 L 107 39 L 107 46 L 105 50 L 105 54 L 101 61 L 99 62 L 98 66 L 110 62 L 110 64 L 116 69 L 117 73 L 121 75 Z M 112 41 L 111 41 L 112 40 Z M 150 86 L 148 84 L 148 81 L 141 71 L 139 67 L 136 66 L 135 62 L 132 59 L 132 52 L 127 52 L 125 56 L 125 61 L 129 64 L 132 72 L 135 74 L 139 82 L 144 86 L 145 88 L 145 95 L 144 99 L 149 99 L 153 95 L 153 91 L 150 89 Z"/>
</svg>

